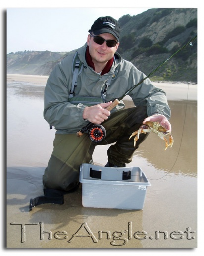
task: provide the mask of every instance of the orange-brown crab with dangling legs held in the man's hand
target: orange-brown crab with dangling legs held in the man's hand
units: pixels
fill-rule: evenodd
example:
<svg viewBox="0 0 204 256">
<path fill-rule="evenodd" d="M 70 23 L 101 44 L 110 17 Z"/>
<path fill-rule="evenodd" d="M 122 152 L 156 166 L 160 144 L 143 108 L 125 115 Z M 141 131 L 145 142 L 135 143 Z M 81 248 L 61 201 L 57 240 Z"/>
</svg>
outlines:
<svg viewBox="0 0 204 256">
<path fill-rule="evenodd" d="M 168 148 L 168 146 L 173 146 L 173 137 L 171 135 L 171 133 L 169 131 L 167 131 L 163 126 L 160 125 L 160 123 L 158 122 L 151 122 L 151 121 L 147 121 L 145 123 L 145 125 L 141 125 L 140 128 L 138 129 L 138 131 L 135 131 L 131 134 L 129 140 L 135 136 L 134 139 L 134 146 L 136 145 L 136 141 L 139 139 L 139 136 L 141 133 L 147 133 L 147 132 L 154 132 L 156 135 L 159 136 L 159 138 L 161 138 L 162 140 L 165 141 L 166 143 L 166 148 L 165 150 Z M 168 140 L 166 139 L 166 137 L 169 138 L 169 143 Z"/>
</svg>

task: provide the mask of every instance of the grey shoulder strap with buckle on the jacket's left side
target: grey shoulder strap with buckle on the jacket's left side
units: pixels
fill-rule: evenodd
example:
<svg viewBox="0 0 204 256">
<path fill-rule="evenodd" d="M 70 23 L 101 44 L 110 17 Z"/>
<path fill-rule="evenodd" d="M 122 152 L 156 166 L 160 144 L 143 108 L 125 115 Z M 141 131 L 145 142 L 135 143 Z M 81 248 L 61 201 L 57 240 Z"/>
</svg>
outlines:
<svg viewBox="0 0 204 256">
<path fill-rule="evenodd" d="M 73 58 L 72 62 L 72 67 L 73 67 L 73 79 L 72 79 L 72 86 L 70 90 L 69 97 L 72 98 L 74 96 L 74 90 L 75 87 L 77 86 L 77 79 L 78 75 L 82 72 L 83 65 L 81 61 L 79 60 L 78 53 L 76 52 Z"/>
</svg>

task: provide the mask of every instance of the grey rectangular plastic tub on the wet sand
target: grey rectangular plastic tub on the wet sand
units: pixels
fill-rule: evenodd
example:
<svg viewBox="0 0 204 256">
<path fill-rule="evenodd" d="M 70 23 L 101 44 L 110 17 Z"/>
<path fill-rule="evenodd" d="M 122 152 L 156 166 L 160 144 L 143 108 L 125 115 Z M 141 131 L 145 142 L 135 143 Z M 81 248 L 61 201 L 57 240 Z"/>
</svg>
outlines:
<svg viewBox="0 0 204 256">
<path fill-rule="evenodd" d="M 82 164 L 82 205 L 93 208 L 143 209 L 151 186 L 140 167 L 113 168 Z"/>
</svg>

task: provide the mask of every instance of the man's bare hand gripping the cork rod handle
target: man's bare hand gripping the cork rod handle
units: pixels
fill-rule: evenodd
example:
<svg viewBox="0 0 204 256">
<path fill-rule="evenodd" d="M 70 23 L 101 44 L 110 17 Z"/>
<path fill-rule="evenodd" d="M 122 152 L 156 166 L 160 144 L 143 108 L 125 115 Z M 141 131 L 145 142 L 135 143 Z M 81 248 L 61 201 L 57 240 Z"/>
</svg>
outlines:
<svg viewBox="0 0 204 256">
<path fill-rule="evenodd" d="M 103 121 L 108 119 L 110 111 L 105 109 L 112 104 L 112 101 L 108 103 L 102 103 L 91 107 L 85 107 L 83 118 L 88 119 L 93 124 L 101 124 Z"/>
</svg>

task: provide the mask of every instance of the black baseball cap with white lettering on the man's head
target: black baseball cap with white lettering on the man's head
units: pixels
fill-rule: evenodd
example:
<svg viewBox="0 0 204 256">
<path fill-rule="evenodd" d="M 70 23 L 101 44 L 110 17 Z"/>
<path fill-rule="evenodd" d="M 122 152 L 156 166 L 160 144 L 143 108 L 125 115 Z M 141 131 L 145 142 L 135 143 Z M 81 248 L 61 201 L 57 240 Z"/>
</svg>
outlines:
<svg viewBox="0 0 204 256">
<path fill-rule="evenodd" d="M 100 17 L 94 21 L 89 33 L 93 32 L 94 35 L 100 35 L 103 33 L 110 33 L 114 35 L 119 42 L 120 38 L 120 25 L 118 21 L 110 16 Z"/>
</svg>

